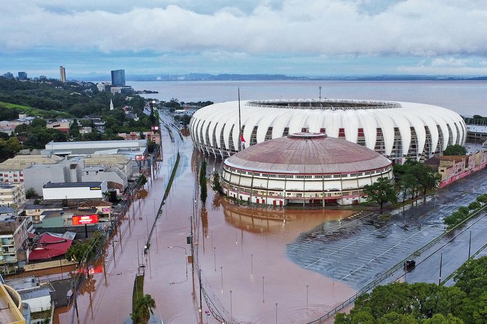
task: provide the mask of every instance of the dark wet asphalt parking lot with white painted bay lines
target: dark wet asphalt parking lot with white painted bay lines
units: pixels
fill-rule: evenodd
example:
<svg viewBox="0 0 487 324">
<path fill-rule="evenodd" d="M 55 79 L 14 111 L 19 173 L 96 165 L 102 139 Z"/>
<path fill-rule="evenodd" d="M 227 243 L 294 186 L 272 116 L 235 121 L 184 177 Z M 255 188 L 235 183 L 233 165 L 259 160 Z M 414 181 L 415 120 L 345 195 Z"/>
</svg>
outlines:
<svg viewBox="0 0 487 324">
<path fill-rule="evenodd" d="M 444 230 L 438 222 L 394 222 L 371 212 L 329 220 L 287 246 L 299 266 L 360 289 Z"/>
</svg>

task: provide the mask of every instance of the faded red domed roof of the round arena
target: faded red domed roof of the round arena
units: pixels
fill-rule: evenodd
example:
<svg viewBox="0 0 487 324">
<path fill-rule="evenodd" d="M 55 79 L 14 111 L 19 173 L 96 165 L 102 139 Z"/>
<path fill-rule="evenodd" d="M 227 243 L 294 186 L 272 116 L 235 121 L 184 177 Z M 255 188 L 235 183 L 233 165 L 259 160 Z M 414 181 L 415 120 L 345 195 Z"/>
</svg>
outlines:
<svg viewBox="0 0 487 324">
<path fill-rule="evenodd" d="M 242 170 L 269 173 L 355 173 L 391 161 L 365 146 L 320 133 L 296 133 L 250 146 L 225 160 Z"/>
</svg>

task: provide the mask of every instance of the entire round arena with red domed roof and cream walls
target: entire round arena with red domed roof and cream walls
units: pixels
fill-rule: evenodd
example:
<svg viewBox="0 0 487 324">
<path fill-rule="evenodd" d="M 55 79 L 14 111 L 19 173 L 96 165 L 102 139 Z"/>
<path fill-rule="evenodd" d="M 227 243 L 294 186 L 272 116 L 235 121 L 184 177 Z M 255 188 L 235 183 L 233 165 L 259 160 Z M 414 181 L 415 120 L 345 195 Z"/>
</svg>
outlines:
<svg viewBox="0 0 487 324">
<path fill-rule="evenodd" d="M 358 204 L 362 189 L 393 178 L 392 162 L 324 133 L 294 133 L 244 149 L 223 162 L 223 192 L 255 204 Z"/>
</svg>

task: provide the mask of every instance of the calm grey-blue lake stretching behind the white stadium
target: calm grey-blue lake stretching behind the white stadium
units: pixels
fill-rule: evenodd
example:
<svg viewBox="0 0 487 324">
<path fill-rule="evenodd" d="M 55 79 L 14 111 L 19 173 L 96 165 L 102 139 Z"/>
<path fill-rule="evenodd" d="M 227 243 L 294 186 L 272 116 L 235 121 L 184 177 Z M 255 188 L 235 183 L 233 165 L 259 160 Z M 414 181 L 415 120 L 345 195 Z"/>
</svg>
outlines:
<svg viewBox="0 0 487 324">
<path fill-rule="evenodd" d="M 487 81 L 127 81 L 144 97 L 179 102 L 227 102 L 245 99 L 378 99 L 419 102 L 461 115 L 487 115 Z"/>
</svg>

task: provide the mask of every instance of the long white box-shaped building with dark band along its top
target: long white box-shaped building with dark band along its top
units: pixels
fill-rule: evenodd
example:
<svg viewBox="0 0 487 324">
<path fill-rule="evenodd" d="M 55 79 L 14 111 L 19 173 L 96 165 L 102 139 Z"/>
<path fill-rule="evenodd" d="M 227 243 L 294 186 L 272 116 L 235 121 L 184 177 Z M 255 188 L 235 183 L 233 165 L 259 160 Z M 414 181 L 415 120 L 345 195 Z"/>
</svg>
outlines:
<svg viewBox="0 0 487 324">
<path fill-rule="evenodd" d="M 74 200 L 104 198 L 106 180 L 96 182 L 48 182 L 42 186 L 44 200 Z"/>
</svg>

